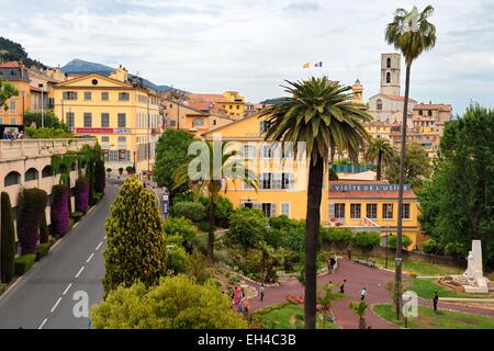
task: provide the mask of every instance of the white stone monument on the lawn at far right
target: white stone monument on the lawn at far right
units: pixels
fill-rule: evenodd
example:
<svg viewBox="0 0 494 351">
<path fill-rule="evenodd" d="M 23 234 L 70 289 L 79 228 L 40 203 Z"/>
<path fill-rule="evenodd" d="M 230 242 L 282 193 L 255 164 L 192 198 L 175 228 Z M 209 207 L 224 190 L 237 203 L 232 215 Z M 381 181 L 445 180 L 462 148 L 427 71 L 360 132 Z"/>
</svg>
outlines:
<svg viewBox="0 0 494 351">
<path fill-rule="evenodd" d="M 489 280 L 482 271 L 482 245 L 481 240 L 472 240 L 472 250 L 467 258 L 468 267 L 463 273 L 463 288 L 465 293 L 489 294 Z"/>
</svg>

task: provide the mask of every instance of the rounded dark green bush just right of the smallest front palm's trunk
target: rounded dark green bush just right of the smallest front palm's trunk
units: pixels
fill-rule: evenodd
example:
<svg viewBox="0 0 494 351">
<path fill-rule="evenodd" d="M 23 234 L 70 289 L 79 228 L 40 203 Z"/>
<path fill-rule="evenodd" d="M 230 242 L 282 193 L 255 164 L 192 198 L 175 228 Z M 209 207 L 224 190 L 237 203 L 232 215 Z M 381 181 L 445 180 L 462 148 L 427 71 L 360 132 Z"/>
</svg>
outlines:
<svg viewBox="0 0 494 351">
<path fill-rule="evenodd" d="M 245 250 L 254 248 L 266 235 L 268 219 L 262 211 L 239 208 L 229 217 L 229 230 L 225 239 Z"/>
</svg>

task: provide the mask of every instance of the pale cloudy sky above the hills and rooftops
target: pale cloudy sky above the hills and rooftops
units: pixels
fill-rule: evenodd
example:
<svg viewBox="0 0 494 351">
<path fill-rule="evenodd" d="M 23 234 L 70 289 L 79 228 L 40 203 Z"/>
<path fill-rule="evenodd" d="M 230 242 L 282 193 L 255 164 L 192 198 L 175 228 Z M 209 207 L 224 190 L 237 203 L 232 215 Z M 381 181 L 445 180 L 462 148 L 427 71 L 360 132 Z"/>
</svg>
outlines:
<svg viewBox="0 0 494 351">
<path fill-rule="evenodd" d="M 411 97 L 493 105 L 494 0 L 0 0 L 0 35 L 45 65 L 123 65 L 191 92 L 283 95 L 285 79 L 327 75 L 379 92 L 384 30 L 396 8 L 435 8 L 436 47 L 412 67 Z M 323 61 L 323 68 L 303 69 Z M 403 66 L 403 64 L 402 64 Z M 402 72 L 402 91 L 404 91 Z"/>
</svg>

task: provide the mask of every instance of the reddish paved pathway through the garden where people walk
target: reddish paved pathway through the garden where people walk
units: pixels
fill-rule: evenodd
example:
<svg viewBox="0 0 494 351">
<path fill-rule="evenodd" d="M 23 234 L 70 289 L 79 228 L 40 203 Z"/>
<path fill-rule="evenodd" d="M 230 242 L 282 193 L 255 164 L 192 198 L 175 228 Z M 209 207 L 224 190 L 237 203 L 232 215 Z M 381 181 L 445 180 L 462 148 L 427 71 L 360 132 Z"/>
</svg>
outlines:
<svg viewBox="0 0 494 351">
<path fill-rule="evenodd" d="M 338 269 L 334 274 L 324 275 L 317 279 L 319 285 L 329 281 L 334 283 L 341 283 L 346 279 L 346 296 L 343 299 L 338 299 L 333 303 L 333 312 L 336 317 L 336 324 L 344 329 L 357 329 L 358 316 L 348 307 L 351 301 L 358 301 L 360 298 L 360 291 L 362 287 L 367 287 L 368 295 L 366 301 L 369 304 L 390 303 L 392 301 L 392 294 L 385 288 L 388 281 L 394 280 L 394 273 L 390 271 L 372 269 L 355 261 L 347 259 L 338 259 Z M 265 288 L 265 301 L 261 303 L 259 297 L 254 298 L 250 302 L 252 310 L 269 305 L 285 302 L 287 295 L 300 296 L 303 295 L 303 286 L 299 281 L 282 282 L 278 287 Z M 420 305 L 431 306 L 431 302 L 419 299 Z M 446 304 L 439 302 L 439 307 L 449 308 L 458 312 L 474 313 L 478 315 L 493 316 L 494 310 L 468 307 L 452 304 Z M 388 324 L 378 316 L 375 316 L 371 309 L 368 310 L 366 321 L 372 329 L 395 329 L 394 325 Z"/>
</svg>

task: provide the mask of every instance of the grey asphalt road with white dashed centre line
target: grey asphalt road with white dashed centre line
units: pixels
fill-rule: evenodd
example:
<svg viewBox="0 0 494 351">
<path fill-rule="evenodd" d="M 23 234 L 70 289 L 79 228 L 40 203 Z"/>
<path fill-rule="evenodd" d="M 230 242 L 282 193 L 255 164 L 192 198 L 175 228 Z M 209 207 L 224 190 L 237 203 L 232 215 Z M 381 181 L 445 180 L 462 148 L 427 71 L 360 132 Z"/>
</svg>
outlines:
<svg viewBox="0 0 494 351">
<path fill-rule="evenodd" d="M 0 329 L 88 328 L 85 305 L 90 308 L 103 297 L 104 222 L 117 186 L 108 182 L 101 202 L 0 296 Z"/>
</svg>

